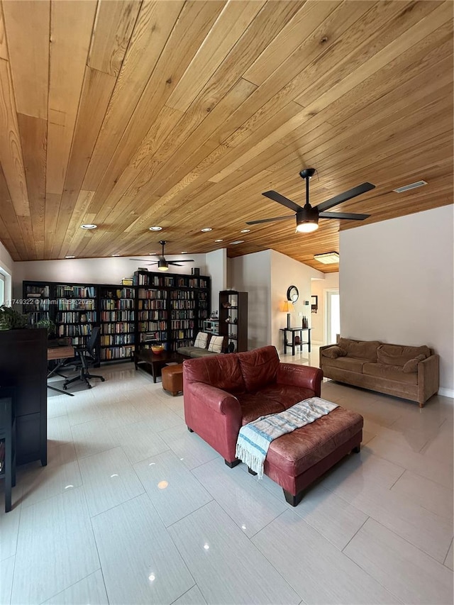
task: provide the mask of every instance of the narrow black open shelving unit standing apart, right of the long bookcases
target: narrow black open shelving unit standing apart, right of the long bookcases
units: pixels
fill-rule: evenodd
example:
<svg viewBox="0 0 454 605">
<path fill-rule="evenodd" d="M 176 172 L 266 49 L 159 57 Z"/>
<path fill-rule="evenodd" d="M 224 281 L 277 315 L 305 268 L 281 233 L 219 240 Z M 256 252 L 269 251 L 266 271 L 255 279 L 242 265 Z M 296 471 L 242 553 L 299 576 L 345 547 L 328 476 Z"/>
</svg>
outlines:
<svg viewBox="0 0 454 605">
<path fill-rule="evenodd" d="M 219 334 L 228 338 L 228 350 L 248 350 L 248 292 L 219 292 Z"/>
</svg>

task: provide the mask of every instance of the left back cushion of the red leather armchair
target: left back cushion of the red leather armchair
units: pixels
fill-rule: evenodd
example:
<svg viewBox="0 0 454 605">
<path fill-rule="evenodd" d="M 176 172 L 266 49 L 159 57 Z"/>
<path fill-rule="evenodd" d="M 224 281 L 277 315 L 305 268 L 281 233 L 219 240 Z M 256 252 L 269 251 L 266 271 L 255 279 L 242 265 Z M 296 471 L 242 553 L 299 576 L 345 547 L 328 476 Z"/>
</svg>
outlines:
<svg viewBox="0 0 454 605">
<path fill-rule="evenodd" d="M 183 362 L 184 380 L 204 382 L 229 393 L 244 393 L 245 384 L 241 374 L 238 355 L 219 355 L 210 353 L 202 359 L 189 359 Z"/>
</svg>

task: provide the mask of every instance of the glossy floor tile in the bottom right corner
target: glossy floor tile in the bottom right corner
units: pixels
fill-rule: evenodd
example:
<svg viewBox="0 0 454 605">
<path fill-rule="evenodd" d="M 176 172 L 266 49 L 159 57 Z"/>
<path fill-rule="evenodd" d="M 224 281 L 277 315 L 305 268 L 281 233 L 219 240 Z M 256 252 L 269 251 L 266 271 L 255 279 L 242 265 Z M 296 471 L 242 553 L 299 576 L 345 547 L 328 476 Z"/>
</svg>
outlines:
<svg viewBox="0 0 454 605">
<path fill-rule="evenodd" d="M 366 521 L 344 553 L 404 603 L 453 602 L 450 570 L 373 519 Z"/>
</svg>

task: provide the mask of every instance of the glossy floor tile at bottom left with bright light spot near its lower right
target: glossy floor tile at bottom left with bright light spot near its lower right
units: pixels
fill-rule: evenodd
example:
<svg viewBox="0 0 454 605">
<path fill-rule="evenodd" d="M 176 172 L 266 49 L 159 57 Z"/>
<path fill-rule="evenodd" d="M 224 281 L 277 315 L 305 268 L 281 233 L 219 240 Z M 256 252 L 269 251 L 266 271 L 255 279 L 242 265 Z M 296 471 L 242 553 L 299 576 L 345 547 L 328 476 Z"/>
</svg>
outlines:
<svg viewBox="0 0 454 605">
<path fill-rule="evenodd" d="M 170 604 L 194 586 L 147 494 L 94 517 L 93 530 L 109 603 Z"/>
</svg>

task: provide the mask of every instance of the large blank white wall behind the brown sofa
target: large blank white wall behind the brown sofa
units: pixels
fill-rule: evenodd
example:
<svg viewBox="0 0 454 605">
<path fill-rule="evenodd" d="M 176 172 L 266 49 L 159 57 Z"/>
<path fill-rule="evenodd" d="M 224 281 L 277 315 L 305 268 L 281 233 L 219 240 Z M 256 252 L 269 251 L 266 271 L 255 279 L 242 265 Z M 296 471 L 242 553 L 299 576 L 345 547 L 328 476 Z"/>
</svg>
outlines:
<svg viewBox="0 0 454 605">
<path fill-rule="evenodd" d="M 341 231 L 339 252 L 342 335 L 428 345 L 454 396 L 453 206 Z"/>
</svg>

